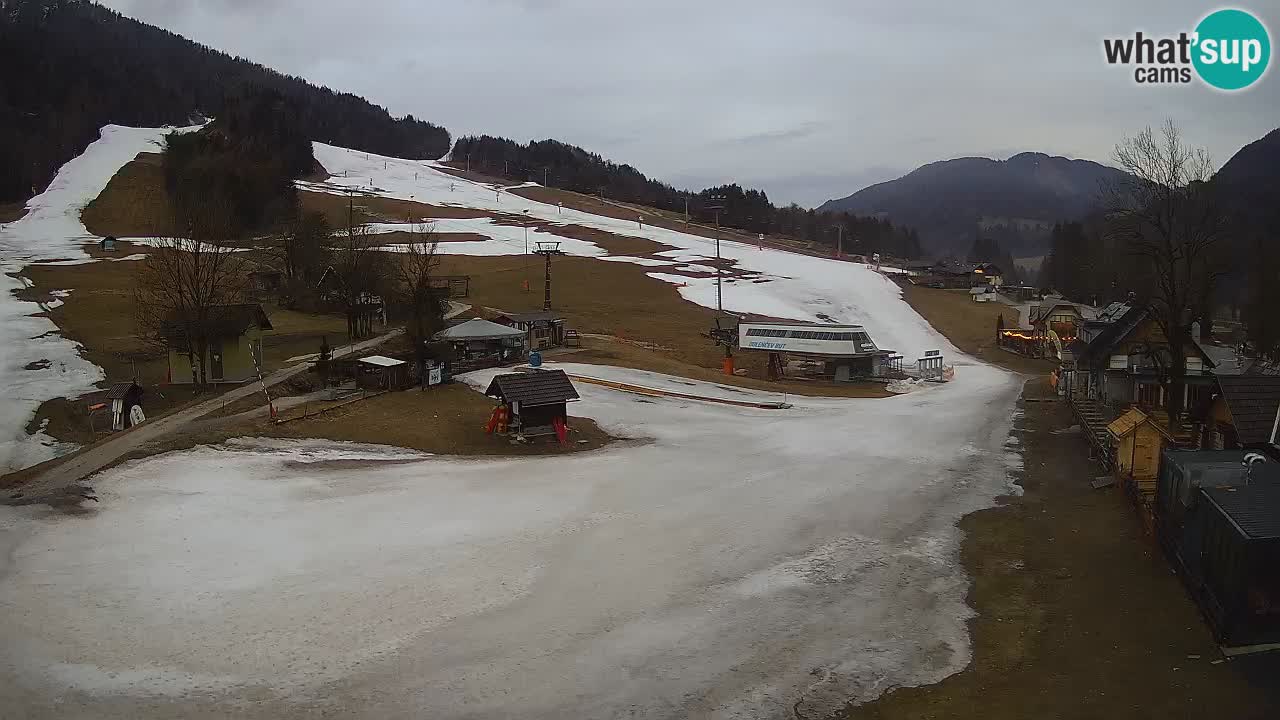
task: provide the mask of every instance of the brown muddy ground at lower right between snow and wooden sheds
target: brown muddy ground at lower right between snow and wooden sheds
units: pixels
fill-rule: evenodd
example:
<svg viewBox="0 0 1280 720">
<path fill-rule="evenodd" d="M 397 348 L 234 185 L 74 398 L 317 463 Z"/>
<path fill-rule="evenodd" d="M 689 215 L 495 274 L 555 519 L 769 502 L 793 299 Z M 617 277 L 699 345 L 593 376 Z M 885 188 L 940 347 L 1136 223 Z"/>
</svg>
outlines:
<svg viewBox="0 0 1280 720">
<path fill-rule="evenodd" d="M 1089 487 L 1101 471 L 1066 405 L 1021 405 L 1025 493 L 961 521 L 973 662 L 840 717 L 1280 717 L 1280 657 L 1224 660 L 1124 496 Z"/>
</svg>

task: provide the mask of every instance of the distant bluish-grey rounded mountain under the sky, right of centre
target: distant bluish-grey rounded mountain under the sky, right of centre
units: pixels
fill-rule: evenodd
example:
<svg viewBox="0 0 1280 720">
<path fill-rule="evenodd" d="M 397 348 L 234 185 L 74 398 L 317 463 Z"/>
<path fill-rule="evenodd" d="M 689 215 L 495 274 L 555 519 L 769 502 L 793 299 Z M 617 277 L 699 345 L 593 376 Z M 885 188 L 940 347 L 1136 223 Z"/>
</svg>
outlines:
<svg viewBox="0 0 1280 720">
<path fill-rule="evenodd" d="M 1043 152 L 956 158 L 828 200 L 819 210 L 882 215 L 914 227 L 936 255 L 961 256 L 983 234 L 1015 256 L 1034 256 L 1044 251 L 1055 222 L 1087 215 L 1103 183 L 1121 177 L 1115 168 Z"/>
</svg>

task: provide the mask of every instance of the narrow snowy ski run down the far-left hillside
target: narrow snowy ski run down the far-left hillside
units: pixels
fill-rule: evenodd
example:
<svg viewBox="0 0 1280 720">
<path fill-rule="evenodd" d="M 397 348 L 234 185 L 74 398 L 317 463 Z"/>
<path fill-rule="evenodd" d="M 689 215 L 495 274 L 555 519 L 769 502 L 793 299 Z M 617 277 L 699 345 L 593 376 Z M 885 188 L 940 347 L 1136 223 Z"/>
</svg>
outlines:
<svg viewBox="0 0 1280 720">
<path fill-rule="evenodd" d="M 29 287 L 18 274 L 40 261 L 90 261 L 84 243 L 97 240 L 79 214 L 102 192 L 116 170 L 138 155 L 159 150 L 172 128 L 106 126 L 99 140 L 59 169 L 49 187 L 27 201 L 27 214 L 0 224 L 0 471 L 10 471 L 56 457 L 74 446 L 44 432 L 27 433 L 40 404 L 93 389 L 101 368 L 79 355 L 79 343 L 58 334 L 58 325 L 41 316 L 45 307 L 18 300 Z"/>
</svg>

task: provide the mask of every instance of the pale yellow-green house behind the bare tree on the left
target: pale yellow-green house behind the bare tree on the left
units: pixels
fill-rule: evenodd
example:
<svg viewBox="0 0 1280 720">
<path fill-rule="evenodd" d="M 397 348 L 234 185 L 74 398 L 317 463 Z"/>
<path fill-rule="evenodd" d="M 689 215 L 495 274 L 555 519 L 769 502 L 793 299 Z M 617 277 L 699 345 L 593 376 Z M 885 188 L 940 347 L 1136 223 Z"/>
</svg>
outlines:
<svg viewBox="0 0 1280 720">
<path fill-rule="evenodd" d="M 192 382 L 192 359 L 196 361 L 196 380 L 200 366 L 205 368 L 209 382 L 239 383 L 257 377 L 257 361 L 262 357 L 262 333 L 270 331 L 271 320 L 256 302 L 218 305 L 210 307 L 204 322 L 209 338 L 204 357 L 195 357 L 188 336 L 195 328 L 191 322 L 170 318 L 161 331 L 169 348 L 169 382 Z"/>
</svg>

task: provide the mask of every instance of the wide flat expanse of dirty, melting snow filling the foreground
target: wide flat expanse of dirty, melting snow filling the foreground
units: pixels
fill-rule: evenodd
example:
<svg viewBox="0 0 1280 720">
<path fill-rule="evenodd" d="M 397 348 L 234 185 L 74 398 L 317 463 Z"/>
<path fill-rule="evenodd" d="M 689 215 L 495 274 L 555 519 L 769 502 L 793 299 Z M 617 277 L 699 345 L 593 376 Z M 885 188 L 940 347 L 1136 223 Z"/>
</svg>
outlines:
<svg viewBox="0 0 1280 720">
<path fill-rule="evenodd" d="M 0 707 L 790 717 L 937 680 L 969 656 L 955 523 L 1016 461 L 1018 379 L 963 377 L 791 410 L 580 384 L 577 414 L 648 439 L 562 457 L 246 441 L 127 464 L 88 514 L 0 507 Z"/>
</svg>

